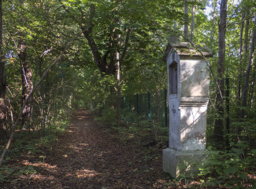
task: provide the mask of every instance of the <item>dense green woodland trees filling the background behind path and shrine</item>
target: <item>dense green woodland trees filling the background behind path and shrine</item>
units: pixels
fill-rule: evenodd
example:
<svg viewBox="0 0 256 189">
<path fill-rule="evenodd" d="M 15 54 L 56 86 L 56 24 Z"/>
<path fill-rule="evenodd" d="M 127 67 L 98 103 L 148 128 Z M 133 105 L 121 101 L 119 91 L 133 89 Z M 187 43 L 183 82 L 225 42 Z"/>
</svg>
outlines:
<svg viewBox="0 0 256 189">
<path fill-rule="evenodd" d="M 250 138 L 248 148 L 254 148 L 255 7 L 251 0 L 0 0 L 0 142 L 15 130 L 44 136 L 80 107 L 118 127 L 130 124 L 129 116 L 138 125 L 150 122 L 161 136 L 163 56 L 176 35 L 213 52 L 210 139 L 229 146 Z M 236 85 L 229 96 L 226 76 Z M 142 122 L 139 105 L 125 101 L 139 95 L 149 109 Z M 156 98 L 153 117 L 147 95 Z M 224 106 L 228 100 L 234 111 Z M 127 102 L 129 113 L 122 109 Z"/>
</svg>

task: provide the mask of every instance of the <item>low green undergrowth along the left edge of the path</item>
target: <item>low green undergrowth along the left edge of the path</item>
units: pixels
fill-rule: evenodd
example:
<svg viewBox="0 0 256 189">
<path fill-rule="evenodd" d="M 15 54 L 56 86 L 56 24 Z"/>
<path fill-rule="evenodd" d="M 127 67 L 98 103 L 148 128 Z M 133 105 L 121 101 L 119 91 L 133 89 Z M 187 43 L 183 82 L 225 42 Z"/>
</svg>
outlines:
<svg viewBox="0 0 256 189">
<path fill-rule="evenodd" d="M 44 157 L 43 148 L 52 147 L 69 125 L 69 120 L 54 122 L 54 126 L 47 129 L 44 134 L 40 131 L 18 131 L 0 166 L 0 184 L 9 182 L 10 178 L 36 173 L 34 166 L 19 164 L 13 166 L 12 162 L 20 162 L 21 158 L 36 155 Z M 0 149 L 4 149 L 4 145 Z M 2 154 L 2 151 L 0 151 Z"/>
</svg>

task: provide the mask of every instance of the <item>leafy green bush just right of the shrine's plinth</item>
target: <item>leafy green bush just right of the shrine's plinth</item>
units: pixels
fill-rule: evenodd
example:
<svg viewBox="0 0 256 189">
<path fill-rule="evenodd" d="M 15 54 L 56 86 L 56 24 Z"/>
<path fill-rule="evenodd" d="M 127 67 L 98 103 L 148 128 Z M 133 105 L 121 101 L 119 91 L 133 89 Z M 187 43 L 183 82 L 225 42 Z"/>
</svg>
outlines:
<svg viewBox="0 0 256 189">
<path fill-rule="evenodd" d="M 203 178 L 204 184 L 232 187 L 240 186 L 243 180 L 247 180 L 247 183 L 253 181 L 247 175 L 254 173 L 256 169 L 255 150 L 248 147 L 248 144 L 239 142 L 232 144 L 230 151 L 210 151 L 209 157 L 200 168 L 199 176 Z"/>
</svg>

